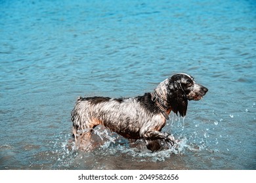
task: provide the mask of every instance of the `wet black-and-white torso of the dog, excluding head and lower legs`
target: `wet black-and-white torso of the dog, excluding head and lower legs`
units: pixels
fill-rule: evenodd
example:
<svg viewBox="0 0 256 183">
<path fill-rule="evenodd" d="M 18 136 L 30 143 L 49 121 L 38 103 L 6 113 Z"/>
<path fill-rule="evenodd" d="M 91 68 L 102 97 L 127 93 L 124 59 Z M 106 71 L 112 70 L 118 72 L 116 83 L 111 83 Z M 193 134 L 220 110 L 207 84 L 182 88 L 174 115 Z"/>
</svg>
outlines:
<svg viewBox="0 0 256 183">
<path fill-rule="evenodd" d="M 164 121 L 155 105 L 147 103 L 151 101 L 149 95 L 124 99 L 79 97 L 72 111 L 75 134 L 104 125 L 127 139 L 142 138 L 144 131 L 159 129 Z"/>
</svg>

